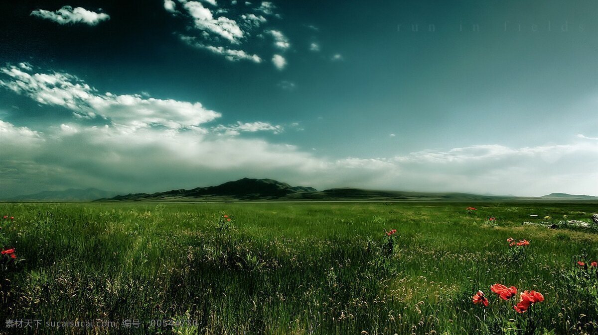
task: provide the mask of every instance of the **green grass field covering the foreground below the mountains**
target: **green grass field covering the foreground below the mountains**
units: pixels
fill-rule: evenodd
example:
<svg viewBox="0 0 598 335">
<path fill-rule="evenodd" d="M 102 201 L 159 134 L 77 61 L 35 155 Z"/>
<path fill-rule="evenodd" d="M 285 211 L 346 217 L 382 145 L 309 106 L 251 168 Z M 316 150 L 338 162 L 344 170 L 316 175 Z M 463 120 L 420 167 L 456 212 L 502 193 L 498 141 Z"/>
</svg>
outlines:
<svg viewBox="0 0 598 335">
<path fill-rule="evenodd" d="M 17 255 L 0 263 L 0 332 L 34 331 L 4 320 L 41 320 L 40 334 L 594 334 L 596 268 L 576 262 L 598 259 L 598 233 L 521 224 L 531 214 L 587 221 L 597 211 L 595 203 L 0 204 L 0 216 L 14 216 L 0 222 L 1 247 Z M 509 247 L 509 237 L 530 245 Z M 498 299 L 495 283 L 545 300 L 518 314 L 518 294 Z M 488 307 L 472 303 L 477 290 Z M 75 320 L 115 324 L 45 326 Z"/>
</svg>

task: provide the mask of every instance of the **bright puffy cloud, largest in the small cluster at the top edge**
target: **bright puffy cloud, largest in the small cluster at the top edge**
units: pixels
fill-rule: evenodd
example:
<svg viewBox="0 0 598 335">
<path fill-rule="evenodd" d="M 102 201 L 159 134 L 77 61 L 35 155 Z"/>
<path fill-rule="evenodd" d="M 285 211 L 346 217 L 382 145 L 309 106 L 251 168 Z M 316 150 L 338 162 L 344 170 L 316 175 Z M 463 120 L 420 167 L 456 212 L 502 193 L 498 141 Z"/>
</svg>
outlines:
<svg viewBox="0 0 598 335">
<path fill-rule="evenodd" d="M 225 16 L 215 18 L 212 11 L 203 7 L 201 2 L 184 2 L 183 7 L 193 17 L 197 29 L 221 36 L 233 44 L 239 44 L 243 38 L 243 31 L 235 20 Z"/>
</svg>

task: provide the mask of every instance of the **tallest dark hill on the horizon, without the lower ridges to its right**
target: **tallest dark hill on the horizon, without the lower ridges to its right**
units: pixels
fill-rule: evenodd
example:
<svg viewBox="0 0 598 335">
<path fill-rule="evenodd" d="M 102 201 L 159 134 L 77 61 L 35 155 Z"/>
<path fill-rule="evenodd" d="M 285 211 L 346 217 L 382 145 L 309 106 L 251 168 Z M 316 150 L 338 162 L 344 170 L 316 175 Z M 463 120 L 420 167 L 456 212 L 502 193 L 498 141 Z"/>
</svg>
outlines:
<svg viewBox="0 0 598 335">
<path fill-rule="evenodd" d="M 109 201 L 153 201 L 153 200 L 272 200 L 285 198 L 297 193 L 316 193 L 313 187 L 292 187 L 286 182 L 274 179 L 243 178 L 218 186 L 197 187 L 193 190 L 172 190 L 154 194 L 138 193 L 116 196 Z"/>
</svg>

